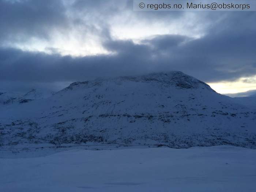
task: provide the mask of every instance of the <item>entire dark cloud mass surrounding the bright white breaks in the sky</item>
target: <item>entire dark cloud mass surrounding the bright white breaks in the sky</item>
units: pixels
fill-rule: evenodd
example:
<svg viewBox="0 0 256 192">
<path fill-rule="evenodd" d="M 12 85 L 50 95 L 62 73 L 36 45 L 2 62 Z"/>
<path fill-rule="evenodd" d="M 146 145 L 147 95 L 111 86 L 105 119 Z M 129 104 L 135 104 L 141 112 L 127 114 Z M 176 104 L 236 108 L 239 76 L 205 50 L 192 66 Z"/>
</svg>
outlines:
<svg viewBox="0 0 256 192">
<path fill-rule="evenodd" d="M 81 26 L 79 30 L 85 34 L 88 30 L 98 33 L 104 48 L 113 53 L 71 57 L 2 46 L 0 81 L 48 86 L 56 82 L 179 70 L 206 82 L 217 82 L 256 74 L 255 12 L 197 12 L 197 24 L 207 26 L 203 37 L 156 35 L 135 44 L 132 40 L 111 37 L 106 22 L 127 10 L 138 19 L 147 21 L 148 25 L 175 20 L 186 14 L 131 12 L 131 1 L 117 4 L 117 1 L 82 0 L 71 4 L 67 14 L 67 7 L 61 0 L 47 3 L 41 0 L 16 3 L 0 0 L 0 45 L 26 41 L 31 37 L 47 39 L 52 30 L 68 31 L 68 27 L 76 25 Z M 188 26 L 187 30 L 195 27 Z"/>
</svg>

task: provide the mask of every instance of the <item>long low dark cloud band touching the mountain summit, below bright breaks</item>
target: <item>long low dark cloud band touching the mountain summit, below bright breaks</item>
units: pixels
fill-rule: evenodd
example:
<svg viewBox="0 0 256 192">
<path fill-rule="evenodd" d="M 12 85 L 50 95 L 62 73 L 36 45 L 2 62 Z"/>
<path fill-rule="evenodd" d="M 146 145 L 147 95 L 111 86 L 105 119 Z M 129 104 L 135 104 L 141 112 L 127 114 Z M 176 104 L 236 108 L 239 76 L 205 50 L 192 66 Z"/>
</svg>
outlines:
<svg viewBox="0 0 256 192">
<path fill-rule="evenodd" d="M 191 39 L 159 35 L 143 44 L 110 40 L 104 46 L 113 55 L 60 56 L 0 49 L 0 80 L 35 82 L 77 81 L 98 77 L 137 75 L 180 70 L 211 82 L 234 80 L 256 73 L 253 33 L 209 34 Z"/>
</svg>

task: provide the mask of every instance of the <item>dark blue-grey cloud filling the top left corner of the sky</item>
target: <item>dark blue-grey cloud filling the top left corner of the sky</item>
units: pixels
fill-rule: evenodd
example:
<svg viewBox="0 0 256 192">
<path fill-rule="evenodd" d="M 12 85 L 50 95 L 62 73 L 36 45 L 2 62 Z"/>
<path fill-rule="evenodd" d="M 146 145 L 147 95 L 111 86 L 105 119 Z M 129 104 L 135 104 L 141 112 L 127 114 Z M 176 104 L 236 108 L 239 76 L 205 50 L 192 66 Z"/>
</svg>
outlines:
<svg viewBox="0 0 256 192">
<path fill-rule="evenodd" d="M 64 30 L 67 19 L 61 0 L 0 0 L 0 45 L 48 39 L 52 30 Z"/>
</svg>

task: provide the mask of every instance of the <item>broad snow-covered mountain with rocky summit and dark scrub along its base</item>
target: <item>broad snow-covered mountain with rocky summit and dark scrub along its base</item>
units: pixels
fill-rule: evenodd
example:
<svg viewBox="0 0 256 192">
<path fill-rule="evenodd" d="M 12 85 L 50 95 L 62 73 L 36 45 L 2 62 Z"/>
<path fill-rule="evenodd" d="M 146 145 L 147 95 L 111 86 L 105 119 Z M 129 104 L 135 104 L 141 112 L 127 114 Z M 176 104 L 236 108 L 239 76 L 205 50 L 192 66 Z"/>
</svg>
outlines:
<svg viewBox="0 0 256 192">
<path fill-rule="evenodd" d="M 126 143 L 256 148 L 256 109 L 182 72 L 75 82 L 0 108 L 0 143 Z"/>
</svg>

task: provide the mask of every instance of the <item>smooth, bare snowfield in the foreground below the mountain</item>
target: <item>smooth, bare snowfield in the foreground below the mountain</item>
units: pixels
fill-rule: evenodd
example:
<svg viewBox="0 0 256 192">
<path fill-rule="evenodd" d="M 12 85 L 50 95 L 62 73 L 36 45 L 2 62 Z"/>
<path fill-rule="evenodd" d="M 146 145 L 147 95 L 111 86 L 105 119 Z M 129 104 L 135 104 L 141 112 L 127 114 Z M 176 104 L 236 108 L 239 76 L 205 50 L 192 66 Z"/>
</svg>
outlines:
<svg viewBox="0 0 256 192">
<path fill-rule="evenodd" d="M 2 192 L 256 190 L 256 150 L 231 146 L 70 150 L 0 166 Z"/>
</svg>

